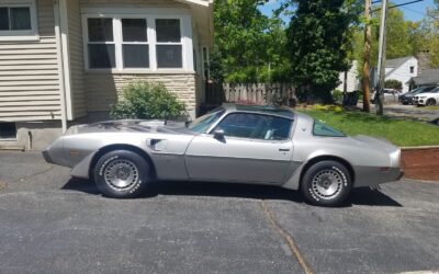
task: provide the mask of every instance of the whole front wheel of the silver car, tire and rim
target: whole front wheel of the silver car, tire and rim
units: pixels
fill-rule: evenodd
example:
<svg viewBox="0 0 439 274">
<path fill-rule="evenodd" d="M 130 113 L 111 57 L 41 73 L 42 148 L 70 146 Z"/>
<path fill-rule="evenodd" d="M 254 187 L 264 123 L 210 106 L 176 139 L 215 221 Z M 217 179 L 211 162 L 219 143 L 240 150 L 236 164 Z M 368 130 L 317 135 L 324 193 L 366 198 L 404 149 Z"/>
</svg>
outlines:
<svg viewBox="0 0 439 274">
<path fill-rule="evenodd" d="M 112 198 L 135 198 L 151 181 L 150 165 L 139 155 L 115 150 L 103 155 L 94 165 L 94 182 L 101 193 Z"/>
</svg>

